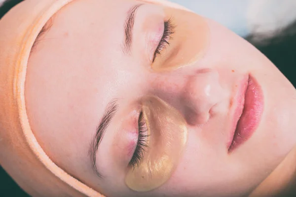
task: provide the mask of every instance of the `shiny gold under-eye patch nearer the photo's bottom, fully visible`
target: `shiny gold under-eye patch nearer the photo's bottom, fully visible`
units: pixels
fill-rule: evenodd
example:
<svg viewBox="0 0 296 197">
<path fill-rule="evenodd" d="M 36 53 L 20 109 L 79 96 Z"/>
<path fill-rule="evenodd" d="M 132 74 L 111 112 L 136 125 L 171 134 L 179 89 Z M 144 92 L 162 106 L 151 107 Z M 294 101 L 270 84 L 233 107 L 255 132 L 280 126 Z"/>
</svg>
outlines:
<svg viewBox="0 0 296 197">
<path fill-rule="evenodd" d="M 159 98 L 144 98 L 142 107 L 148 129 L 148 147 L 143 161 L 129 169 L 125 182 L 134 191 L 146 192 L 170 178 L 185 148 L 187 128 L 183 116 Z"/>
</svg>

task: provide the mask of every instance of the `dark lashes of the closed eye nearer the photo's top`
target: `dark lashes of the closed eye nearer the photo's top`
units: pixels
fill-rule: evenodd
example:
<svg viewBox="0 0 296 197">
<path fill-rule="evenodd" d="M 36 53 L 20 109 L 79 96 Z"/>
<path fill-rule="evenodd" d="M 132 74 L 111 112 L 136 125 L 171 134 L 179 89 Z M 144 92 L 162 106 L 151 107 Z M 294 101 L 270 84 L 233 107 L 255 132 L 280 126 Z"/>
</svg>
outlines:
<svg viewBox="0 0 296 197">
<path fill-rule="evenodd" d="M 175 33 L 175 26 L 172 24 L 171 18 L 169 20 L 164 21 L 164 30 L 162 34 L 162 38 L 155 50 L 153 61 L 155 61 L 155 58 L 157 55 L 160 55 L 160 52 L 166 48 L 167 45 L 170 45 L 169 40 L 172 39 L 172 34 Z"/>
</svg>

